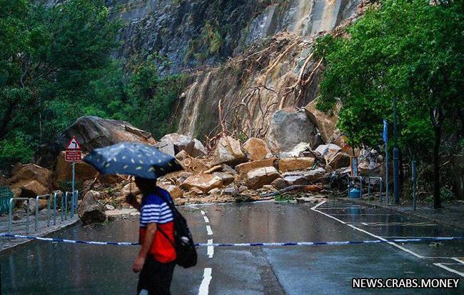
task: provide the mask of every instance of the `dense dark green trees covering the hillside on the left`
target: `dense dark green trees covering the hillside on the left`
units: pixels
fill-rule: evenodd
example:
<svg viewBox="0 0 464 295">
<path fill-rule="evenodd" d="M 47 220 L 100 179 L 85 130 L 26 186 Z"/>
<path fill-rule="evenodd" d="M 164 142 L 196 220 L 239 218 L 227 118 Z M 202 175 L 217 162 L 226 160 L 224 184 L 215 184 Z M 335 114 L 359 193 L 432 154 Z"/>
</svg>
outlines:
<svg viewBox="0 0 464 295">
<path fill-rule="evenodd" d="M 158 76 L 153 59 L 123 69 L 112 59 L 123 25 L 103 0 L 0 0 L 0 166 L 29 161 L 79 116 L 130 121 L 155 136 L 181 76 Z"/>
</svg>

